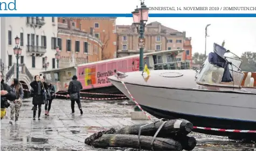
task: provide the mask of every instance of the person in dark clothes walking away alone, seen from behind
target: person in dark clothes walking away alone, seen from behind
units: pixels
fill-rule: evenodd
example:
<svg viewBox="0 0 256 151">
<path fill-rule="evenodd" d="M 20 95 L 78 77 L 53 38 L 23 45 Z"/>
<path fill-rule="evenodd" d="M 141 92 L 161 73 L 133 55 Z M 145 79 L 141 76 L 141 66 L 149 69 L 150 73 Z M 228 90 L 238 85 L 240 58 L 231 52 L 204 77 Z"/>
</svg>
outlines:
<svg viewBox="0 0 256 151">
<path fill-rule="evenodd" d="M 74 115 L 74 112 L 75 112 L 74 110 L 75 102 L 77 102 L 78 104 L 80 114 L 81 115 L 83 114 L 81 101 L 80 101 L 80 90 L 82 89 L 82 84 L 77 79 L 78 79 L 77 75 L 73 75 L 73 78 L 70 81 L 70 85 L 68 86 L 68 90 L 67 90 L 67 97 L 70 97 L 70 100 L 71 100 L 72 115 Z"/>
</svg>

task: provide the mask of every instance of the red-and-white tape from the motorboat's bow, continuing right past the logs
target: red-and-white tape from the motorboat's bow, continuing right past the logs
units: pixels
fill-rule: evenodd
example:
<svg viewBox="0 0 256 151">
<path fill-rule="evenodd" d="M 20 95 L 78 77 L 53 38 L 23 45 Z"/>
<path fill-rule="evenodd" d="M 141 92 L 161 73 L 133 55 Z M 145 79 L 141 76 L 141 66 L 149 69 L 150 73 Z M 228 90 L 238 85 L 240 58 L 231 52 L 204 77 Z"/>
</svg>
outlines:
<svg viewBox="0 0 256 151">
<path fill-rule="evenodd" d="M 139 103 L 137 103 L 137 102 L 135 101 L 134 97 L 132 96 L 132 94 L 130 94 L 128 88 L 126 87 L 126 84 L 124 84 L 124 82 L 123 82 L 120 78 L 117 77 L 117 79 L 119 79 L 119 80 L 122 82 L 124 88 L 126 88 L 127 92 L 129 93 L 130 97 L 132 97 L 132 99 L 133 99 L 133 101 L 136 103 L 137 107 L 139 107 L 139 108 L 143 111 L 143 113 L 144 113 L 150 120 L 152 120 L 151 117 L 141 108 L 141 106 L 139 105 Z M 153 120 L 152 120 L 152 121 L 153 121 Z M 154 122 L 154 121 L 153 121 L 153 122 Z M 219 132 L 256 133 L 256 130 L 225 130 L 225 129 L 215 129 L 215 128 L 208 128 L 208 127 L 198 127 L 198 126 L 193 126 L 193 129 L 211 130 L 211 131 L 219 131 Z"/>
</svg>

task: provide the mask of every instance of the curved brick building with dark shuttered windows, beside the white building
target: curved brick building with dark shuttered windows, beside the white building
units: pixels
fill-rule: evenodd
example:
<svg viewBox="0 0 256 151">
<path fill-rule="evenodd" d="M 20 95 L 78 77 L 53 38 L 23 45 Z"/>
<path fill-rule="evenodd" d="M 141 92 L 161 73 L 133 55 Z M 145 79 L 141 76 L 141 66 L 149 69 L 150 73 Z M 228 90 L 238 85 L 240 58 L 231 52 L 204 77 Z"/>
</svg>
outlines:
<svg viewBox="0 0 256 151">
<path fill-rule="evenodd" d="M 58 23 L 60 48 L 59 67 L 101 61 L 102 42 L 72 25 L 72 21 Z M 56 66 L 54 66 L 56 67 Z"/>
</svg>

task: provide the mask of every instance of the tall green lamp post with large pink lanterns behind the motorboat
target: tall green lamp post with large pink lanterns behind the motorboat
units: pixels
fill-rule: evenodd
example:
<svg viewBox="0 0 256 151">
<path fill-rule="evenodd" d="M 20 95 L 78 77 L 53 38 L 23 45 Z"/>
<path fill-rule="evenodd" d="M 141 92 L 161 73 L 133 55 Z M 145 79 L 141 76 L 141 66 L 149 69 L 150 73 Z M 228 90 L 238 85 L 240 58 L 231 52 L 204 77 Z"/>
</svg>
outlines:
<svg viewBox="0 0 256 151">
<path fill-rule="evenodd" d="M 140 34 L 140 39 L 144 39 L 144 28 L 148 21 L 149 8 L 141 1 L 141 7 L 136 8 L 133 13 L 133 22 Z M 143 51 L 144 48 L 140 47 L 140 71 L 143 71 Z"/>
</svg>

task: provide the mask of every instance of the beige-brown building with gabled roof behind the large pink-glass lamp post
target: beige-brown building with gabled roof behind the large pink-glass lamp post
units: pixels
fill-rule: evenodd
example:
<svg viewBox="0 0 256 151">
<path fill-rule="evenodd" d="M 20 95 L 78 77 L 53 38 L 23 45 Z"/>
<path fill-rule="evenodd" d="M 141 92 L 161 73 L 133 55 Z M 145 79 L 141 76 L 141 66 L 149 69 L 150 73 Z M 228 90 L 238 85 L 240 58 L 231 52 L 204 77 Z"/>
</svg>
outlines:
<svg viewBox="0 0 256 151">
<path fill-rule="evenodd" d="M 139 53 L 139 34 L 135 26 L 117 25 L 117 57 L 129 56 Z M 146 46 L 144 52 L 154 52 L 171 49 L 183 49 L 186 39 L 185 32 L 179 32 L 163 26 L 160 22 L 151 22 L 145 26 L 144 37 Z M 183 60 L 184 53 L 177 55 Z"/>
</svg>

